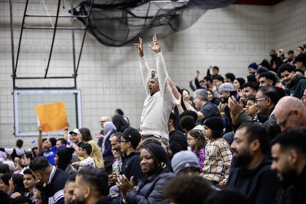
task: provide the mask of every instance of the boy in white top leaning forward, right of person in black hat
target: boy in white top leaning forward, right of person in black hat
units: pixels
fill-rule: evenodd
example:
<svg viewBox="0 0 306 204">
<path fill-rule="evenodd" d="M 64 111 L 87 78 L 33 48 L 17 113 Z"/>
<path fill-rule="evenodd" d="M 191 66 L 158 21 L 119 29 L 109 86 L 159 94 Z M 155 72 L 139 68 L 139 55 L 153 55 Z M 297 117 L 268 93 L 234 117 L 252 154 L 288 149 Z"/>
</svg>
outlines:
<svg viewBox="0 0 306 204">
<path fill-rule="evenodd" d="M 80 166 L 79 171 L 80 169 L 84 167 L 88 167 L 88 166 L 95 167 L 93 158 L 89 157 L 89 155 L 91 154 L 91 151 L 92 151 L 92 147 L 90 144 L 82 143 L 79 147 L 78 156 L 83 157 L 84 160 L 81 162 L 73 162 L 71 165 L 73 167 Z"/>
</svg>

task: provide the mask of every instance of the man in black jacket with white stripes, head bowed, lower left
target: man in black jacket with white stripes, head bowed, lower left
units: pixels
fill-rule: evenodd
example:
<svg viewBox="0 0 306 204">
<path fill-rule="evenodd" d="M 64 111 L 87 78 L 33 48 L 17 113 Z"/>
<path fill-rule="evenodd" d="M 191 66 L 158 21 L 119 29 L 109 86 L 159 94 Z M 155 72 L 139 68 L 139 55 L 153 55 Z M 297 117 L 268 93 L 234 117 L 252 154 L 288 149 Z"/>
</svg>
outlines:
<svg viewBox="0 0 306 204">
<path fill-rule="evenodd" d="M 45 157 L 34 158 L 29 168 L 37 180 L 46 184 L 45 193 L 41 197 L 42 203 L 53 204 L 63 202 L 63 189 L 69 174 L 62 169 L 52 166 Z"/>
</svg>

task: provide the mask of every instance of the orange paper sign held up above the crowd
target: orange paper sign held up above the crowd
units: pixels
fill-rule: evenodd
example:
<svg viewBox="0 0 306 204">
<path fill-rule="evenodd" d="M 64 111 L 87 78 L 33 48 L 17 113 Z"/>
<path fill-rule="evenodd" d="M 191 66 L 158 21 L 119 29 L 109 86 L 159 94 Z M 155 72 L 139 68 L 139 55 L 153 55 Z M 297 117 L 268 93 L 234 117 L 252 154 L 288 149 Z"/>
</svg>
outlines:
<svg viewBox="0 0 306 204">
<path fill-rule="evenodd" d="M 64 102 L 45 104 L 35 107 L 42 126 L 42 132 L 57 131 L 68 128 L 67 113 Z"/>
</svg>

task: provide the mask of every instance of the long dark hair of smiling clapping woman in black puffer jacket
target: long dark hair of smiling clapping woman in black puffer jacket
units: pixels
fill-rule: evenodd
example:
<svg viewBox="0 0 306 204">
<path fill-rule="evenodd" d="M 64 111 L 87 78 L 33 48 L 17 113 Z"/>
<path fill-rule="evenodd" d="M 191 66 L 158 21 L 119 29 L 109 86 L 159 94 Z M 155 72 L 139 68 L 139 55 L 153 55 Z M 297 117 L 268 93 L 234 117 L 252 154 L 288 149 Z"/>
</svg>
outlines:
<svg viewBox="0 0 306 204">
<path fill-rule="evenodd" d="M 170 171 L 170 160 L 169 156 L 167 155 L 166 151 L 163 149 L 162 146 L 155 144 L 155 143 L 148 143 L 146 145 L 141 146 L 142 149 L 146 149 L 153 158 L 155 167 L 157 172 L 155 174 L 160 174 L 163 172 Z M 165 168 L 161 168 L 161 163 L 166 164 Z"/>
</svg>

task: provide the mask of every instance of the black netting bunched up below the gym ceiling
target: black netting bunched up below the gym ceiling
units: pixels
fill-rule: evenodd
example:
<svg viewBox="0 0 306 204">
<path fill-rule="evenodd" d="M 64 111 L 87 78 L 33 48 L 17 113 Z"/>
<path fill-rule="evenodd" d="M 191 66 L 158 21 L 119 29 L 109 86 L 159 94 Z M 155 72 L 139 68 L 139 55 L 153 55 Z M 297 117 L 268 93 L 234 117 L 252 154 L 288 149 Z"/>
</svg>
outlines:
<svg viewBox="0 0 306 204">
<path fill-rule="evenodd" d="M 135 43 L 139 37 L 159 39 L 189 28 L 208 9 L 230 5 L 237 0 L 190 1 L 95 1 L 87 31 L 100 43 L 122 46 Z M 74 9 L 75 15 L 87 15 L 91 0 Z M 86 18 L 78 18 L 86 24 Z"/>
</svg>

